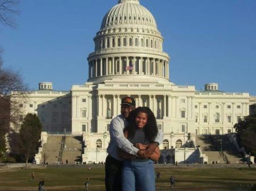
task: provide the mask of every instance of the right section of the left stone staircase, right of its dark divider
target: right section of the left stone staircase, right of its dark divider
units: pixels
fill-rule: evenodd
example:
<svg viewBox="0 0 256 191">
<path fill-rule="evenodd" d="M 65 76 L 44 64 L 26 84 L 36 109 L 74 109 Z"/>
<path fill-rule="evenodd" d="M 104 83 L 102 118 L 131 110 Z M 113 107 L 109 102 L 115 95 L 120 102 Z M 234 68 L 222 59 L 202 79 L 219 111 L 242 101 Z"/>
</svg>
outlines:
<svg viewBox="0 0 256 191">
<path fill-rule="evenodd" d="M 68 160 L 69 164 L 82 162 L 82 136 L 67 136 L 62 155 L 63 163 Z"/>
</svg>

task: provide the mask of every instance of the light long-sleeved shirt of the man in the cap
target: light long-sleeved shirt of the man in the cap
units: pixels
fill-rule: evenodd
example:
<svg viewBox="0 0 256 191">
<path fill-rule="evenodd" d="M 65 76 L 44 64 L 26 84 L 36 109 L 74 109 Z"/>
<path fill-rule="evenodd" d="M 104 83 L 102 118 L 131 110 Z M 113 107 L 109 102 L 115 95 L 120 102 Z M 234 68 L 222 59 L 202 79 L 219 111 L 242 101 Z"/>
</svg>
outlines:
<svg viewBox="0 0 256 191">
<path fill-rule="evenodd" d="M 110 142 L 107 152 L 110 156 L 117 160 L 123 160 L 117 155 L 118 148 L 121 148 L 123 151 L 132 155 L 137 155 L 138 152 L 138 148 L 134 147 L 133 144 L 125 138 L 125 135 L 123 135 L 123 129 L 125 129 L 126 126 L 127 121 L 121 114 L 113 118 L 113 120 L 110 122 Z M 158 135 L 155 138 L 155 142 L 158 142 L 159 144 L 163 143 L 162 130 L 158 130 Z"/>
</svg>

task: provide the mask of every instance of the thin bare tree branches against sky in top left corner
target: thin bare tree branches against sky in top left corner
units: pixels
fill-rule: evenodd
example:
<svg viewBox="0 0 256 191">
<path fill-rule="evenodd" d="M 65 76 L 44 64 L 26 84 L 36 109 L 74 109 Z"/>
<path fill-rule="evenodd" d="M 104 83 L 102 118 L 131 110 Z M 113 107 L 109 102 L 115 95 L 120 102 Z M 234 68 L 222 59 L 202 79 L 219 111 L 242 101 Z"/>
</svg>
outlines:
<svg viewBox="0 0 256 191">
<path fill-rule="evenodd" d="M 0 0 L 0 22 L 7 26 L 16 27 L 14 15 L 19 13 L 17 9 L 19 0 Z"/>
</svg>

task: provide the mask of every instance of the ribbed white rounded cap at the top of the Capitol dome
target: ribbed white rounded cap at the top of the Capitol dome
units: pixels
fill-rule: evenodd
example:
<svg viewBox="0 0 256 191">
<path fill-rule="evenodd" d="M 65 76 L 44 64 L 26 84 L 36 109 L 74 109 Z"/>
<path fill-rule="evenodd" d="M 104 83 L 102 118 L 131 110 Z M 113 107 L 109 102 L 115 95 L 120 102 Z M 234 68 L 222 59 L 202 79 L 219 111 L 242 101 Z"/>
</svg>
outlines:
<svg viewBox="0 0 256 191">
<path fill-rule="evenodd" d="M 118 4 L 112 7 L 101 23 L 101 29 L 110 26 L 124 24 L 139 24 L 156 28 L 154 16 L 138 0 L 119 0 Z"/>
</svg>

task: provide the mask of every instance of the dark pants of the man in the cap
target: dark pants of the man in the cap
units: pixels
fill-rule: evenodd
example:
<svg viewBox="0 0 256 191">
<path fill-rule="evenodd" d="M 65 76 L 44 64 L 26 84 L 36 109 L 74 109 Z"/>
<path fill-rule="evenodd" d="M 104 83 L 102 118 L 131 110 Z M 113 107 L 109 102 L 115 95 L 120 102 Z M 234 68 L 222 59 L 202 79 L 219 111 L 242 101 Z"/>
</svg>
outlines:
<svg viewBox="0 0 256 191">
<path fill-rule="evenodd" d="M 106 191 L 122 191 L 122 165 L 123 162 L 112 158 L 106 158 L 105 164 L 105 186 Z"/>
</svg>

